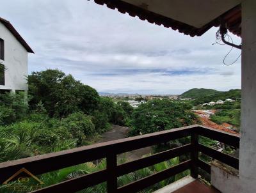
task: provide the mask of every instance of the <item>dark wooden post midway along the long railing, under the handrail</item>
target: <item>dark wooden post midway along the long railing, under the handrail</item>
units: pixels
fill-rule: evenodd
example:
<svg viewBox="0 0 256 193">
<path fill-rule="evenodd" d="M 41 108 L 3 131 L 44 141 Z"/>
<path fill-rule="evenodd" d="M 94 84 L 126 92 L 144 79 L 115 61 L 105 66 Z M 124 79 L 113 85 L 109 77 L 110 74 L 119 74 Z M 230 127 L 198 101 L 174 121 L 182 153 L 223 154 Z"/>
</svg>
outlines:
<svg viewBox="0 0 256 193">
<path fill-rule="evenodd" d="M 116 175 L 116 154 L 110 154 L 107 156 L 107 173 L 108 173 L 108 193 L 115 193 L 117 190 L 117 175 Z"/>
</svg>

